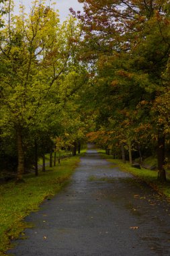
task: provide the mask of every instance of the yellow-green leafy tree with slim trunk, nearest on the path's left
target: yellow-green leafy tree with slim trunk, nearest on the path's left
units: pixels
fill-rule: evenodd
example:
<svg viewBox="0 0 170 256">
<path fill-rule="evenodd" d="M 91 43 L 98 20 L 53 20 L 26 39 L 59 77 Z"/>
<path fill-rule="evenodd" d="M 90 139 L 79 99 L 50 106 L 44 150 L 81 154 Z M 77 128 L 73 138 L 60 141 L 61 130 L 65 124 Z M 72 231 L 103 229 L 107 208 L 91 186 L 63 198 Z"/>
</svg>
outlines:
<svg viewBox="0 0 170 256">
<path fill-rule="evenodd" d="M 22 135 L 37 123 L 39 128 L 43 126 L 40 117 L 44 110 L 44 115 L 52 115 L 62 108 L 60 90 L 80 32 L 72 18 L 60 25 L 58 12 L 46 7 L 44 1 L 34 1 L 28 17 L 23 6 L 21 15 L 13 16 L 13 1 L 7 2 L 9 22 L 1 30 L 0 45 L 1 129 L 15 129 L 17 179 L 22 180 Z"/>
</svg>

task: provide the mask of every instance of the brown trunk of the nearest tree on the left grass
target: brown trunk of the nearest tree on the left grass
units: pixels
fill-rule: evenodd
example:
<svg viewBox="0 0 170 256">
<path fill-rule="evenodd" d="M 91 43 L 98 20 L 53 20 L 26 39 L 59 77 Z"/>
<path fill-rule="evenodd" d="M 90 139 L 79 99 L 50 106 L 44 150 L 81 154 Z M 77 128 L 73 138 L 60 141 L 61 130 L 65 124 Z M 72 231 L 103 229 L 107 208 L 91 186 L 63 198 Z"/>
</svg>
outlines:
<svg viewBox="0 0 170 256">
<path fill-rule="evenodd" d="M 22 146 L 22 131 L 17 129 L 17 182 L 23 181 L 24 174 L 24 150 Z"/>
</svg>

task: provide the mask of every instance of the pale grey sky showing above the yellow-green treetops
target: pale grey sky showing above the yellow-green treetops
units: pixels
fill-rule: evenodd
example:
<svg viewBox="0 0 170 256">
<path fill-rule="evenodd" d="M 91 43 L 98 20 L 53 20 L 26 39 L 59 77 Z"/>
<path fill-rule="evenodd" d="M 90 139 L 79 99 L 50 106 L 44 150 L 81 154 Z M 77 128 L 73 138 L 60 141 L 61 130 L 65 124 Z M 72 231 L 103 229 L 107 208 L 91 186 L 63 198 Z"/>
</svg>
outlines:
<svg viewBox="0 0 170 256">
<path fill-rule="evenodd" d="M 18 13 L 19 10 L 19 3 L 21 0 L 14 0 L 15 3 L 15 13 Z M 50 1 L 47 0 L 46 3 L 48 4 Z M 70 11 L 69 8 L 73 7 L 75 11 L 82 11 L 83 7 L 82 4 L 78 2 L 78 0 L 56 0 L 56 8 L 59 10 L 60 13 L 60 21 L 63 22 L 67 15 L 69 15 Z M 32 5 L 32 0 L 22 0 L 22 3 L 26 6 L 26 10 L 29 11 L 30 6 Z"/>
</svg>

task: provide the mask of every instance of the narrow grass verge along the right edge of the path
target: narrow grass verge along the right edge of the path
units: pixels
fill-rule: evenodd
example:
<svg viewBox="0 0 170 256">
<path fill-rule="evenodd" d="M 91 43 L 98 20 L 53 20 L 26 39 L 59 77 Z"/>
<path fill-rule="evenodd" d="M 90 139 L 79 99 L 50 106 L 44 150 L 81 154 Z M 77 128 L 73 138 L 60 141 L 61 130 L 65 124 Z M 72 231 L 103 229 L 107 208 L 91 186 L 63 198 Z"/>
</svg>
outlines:
<svg viewBox="0 0 170 256">
<path fill-rule="evenodd" d="M 104 150 L 98 150 L 101 158 L 108 160 L 116 164 L 120 170 L 124 172 L 129 172 L 134 175 L 137 179 L 145 181 L 148 185 L 153 187 L 159 194 L 165 195 L 168 200 L 170 200 L 170 179 L 167 177 L 167 182 L 161 183 L 157 180 L 157 171 L 156 170 L 148 170 L 148 169 L 137 169 L 133 168 L 130 163 L 126 162 L 124 164 L 122 160 L 115 160 L 113 156 L 108 156 L 104 153 Z"/>
</svg>

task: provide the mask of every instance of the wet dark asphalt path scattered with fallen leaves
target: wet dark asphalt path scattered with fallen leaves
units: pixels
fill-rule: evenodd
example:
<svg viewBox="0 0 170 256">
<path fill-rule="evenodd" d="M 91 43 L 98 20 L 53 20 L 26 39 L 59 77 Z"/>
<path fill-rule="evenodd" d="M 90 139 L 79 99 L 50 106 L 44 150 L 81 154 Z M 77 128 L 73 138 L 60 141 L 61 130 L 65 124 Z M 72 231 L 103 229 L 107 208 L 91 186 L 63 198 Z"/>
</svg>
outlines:
<svg viewBox="0 0 170 256">
<path fill-rule="evenodd" d="M 170 255 L 170 207 L 145 183 L 88 150 L 72 182 L 26 221 L 17 256 Z"/>
</svg>

